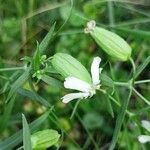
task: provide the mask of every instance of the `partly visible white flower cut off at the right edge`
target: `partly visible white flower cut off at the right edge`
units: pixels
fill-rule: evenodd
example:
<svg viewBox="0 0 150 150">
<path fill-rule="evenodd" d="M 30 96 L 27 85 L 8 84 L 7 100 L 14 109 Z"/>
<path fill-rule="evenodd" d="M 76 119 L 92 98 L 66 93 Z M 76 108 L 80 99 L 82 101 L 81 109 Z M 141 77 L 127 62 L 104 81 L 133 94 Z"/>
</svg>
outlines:
<svg viewBox="0 0 150 150">
<path fill-rule="evenodd" d="M 146 120 L 142 120 L 142 127 L 145 128 L 148 132 L 150 132 L 150 122 Z M 140 143 L 150 142 L 149 135 L 140 135 L 138 136 L 138 140 Z"/>
</svg>

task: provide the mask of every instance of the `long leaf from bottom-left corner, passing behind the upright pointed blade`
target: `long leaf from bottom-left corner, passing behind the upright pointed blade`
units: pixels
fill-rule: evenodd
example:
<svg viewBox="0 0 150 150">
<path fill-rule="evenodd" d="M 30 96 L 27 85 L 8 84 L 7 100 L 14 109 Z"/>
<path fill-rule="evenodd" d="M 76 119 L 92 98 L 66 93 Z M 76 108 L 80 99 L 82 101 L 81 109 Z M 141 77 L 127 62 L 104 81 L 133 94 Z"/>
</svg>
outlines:
<svg viewBox="0 0 150 150">
<path fill-rule="evenodd" d="M 46 118 L 49 116 L 49 113 L 50 111 L 47 111 L 46 113 L 44 113 L 42 116 L 40 116 L 38 119 L 36 119 L 29 125 L 31 132 L 37 129 L 46 120 Z M 19 143 L 22 142 L 22 136 L 23 136 L 23 132 L 22 130 L 20 130 L 14 135 L 12 135 L 11 137 L 8 137 L 6 140 L 1 141 L 0 149 L 9 150 L 14 148 Z"/>
</svg>

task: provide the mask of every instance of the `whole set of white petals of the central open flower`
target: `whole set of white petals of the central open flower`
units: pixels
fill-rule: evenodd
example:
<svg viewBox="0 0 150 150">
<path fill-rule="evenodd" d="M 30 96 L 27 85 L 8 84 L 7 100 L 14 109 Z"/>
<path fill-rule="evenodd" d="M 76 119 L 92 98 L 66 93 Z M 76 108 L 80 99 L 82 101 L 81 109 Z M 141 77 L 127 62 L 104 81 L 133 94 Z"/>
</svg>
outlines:
<svg viewBox="0 0 150 150">
<path fill-rule="evenodd" d="M 76 77 L 67 77 L 64 82 L 64 87 L 67 89 L 80 91 L 78 93 L 70 93 L 62 97 L 63 103 L 68 103 L 74 99 L 83 99 L 92 97 L 96 94 L 96 89 L 100 88 L 99 74 L 102 68 L 99 68 L 101 62 L 100 57 L 95 57 L 91 65 L 92 84 L 89 84 Z"/>
</svg>

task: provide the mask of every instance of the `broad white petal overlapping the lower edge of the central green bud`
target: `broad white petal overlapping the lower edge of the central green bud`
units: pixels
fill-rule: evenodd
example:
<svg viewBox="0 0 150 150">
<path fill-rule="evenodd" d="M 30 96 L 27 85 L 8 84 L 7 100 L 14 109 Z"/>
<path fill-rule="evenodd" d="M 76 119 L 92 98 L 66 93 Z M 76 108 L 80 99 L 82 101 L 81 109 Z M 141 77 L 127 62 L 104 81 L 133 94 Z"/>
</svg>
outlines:
<svg viewBox="0 0 150 150">
<path fill-rule="evenodd" d="M 64 82 L 64 87 L 81 92 L 89 92 L 91 89 L 90 84 L 75 77 L 67 77 Z"/>
</svg>

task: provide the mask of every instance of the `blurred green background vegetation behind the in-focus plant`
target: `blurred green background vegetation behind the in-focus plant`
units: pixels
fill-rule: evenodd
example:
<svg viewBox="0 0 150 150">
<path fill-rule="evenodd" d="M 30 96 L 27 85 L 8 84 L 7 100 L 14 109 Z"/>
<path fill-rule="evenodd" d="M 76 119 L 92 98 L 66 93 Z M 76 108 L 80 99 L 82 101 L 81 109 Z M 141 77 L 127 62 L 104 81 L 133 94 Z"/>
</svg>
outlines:
<svg viewBox="0 0 150 150">
<path fill-rule="evenodd" d="M 41 42 L 54 22 L 56 22 L 56 30 L 59 29 L 69 15 L 70 18 L 61 32 L 49 44 L 46 51 L 48 57 L 57 52 L 68 53 L 90 71 L 93 57 L 100 56 L 103 74 L 115 81 L 128 81 L 131 75 L 130 63 L 112 60 L 89 35 L 84 34 L 84 27 L 89 20 L 95 20 L 98 26 L 122 36 L 132 47 L 132 57 L 136 66 L 150 56 L 149 0 L 74 0 L 71 14 L 70 9 L 71 2 L 66 0 L 0 0 L 0 68 L 23 66 L 20 59 L 24 56 L 33 56 L 36 40 Z M 18 76 L 17 71 L 0 72 L 1 116 L 10 86 Z M 149 78 L 150 65 L 138 80 Z M 36 84 L 34 79 L 31 80 L 34 84 L 34 92 L 54 105 L 53 114 L 50 114 L 38 130 L 52 128 L 61 133 L 63 129 L 65 135 L 60 149 L 108 149 L 118 113 L 118 107 L 108 97 L 97 92 L 91 99 L 81 101 L 74 117 L 70 119 L 76 102 L 68 105 L 61 102 L 61 97 L 68 91 L 42 81 Z M 110 93 L 113 91 L 112 87 L 103 86 Z M 23 85 L 23 88 L 32 91 L 28 82 Z M 137 85 L 136 89 L 150 99 L 149 84 Z M 127 97 L 127 90 L 115 88 L 113 96 L 117 101 L 122 102 Z M 47 109 L 33 98 L 18 92 L 9 121 L 6 126 L 1 127 L 0 139 L 3 140 L 21 129 L 21 113 L 26 115 L 30 123 Z M 137 136 L 144 133 L 140 125 L 141 120 L 150 120 L 149 106 L 133 94 L 128 110 L 136 115 L 126 116 L 117 149 L 146 149 L 150 145 L 142 146 Z M 0 121 L 2 124 L 3 120 Z"/>
</svg>

